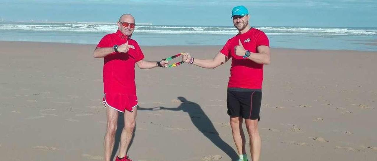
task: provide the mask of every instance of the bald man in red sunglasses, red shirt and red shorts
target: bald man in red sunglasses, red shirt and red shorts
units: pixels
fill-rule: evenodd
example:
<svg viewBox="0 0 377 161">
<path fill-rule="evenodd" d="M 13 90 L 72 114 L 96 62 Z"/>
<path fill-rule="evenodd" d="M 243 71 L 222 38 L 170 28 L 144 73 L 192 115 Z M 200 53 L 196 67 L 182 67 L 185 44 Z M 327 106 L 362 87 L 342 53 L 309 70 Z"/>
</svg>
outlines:
<svg viewBox="0 0 377 161">
<path fill-rule="evenodd" d="M 124 14 L 117 22 L 119 29 L 104 36 L 93 52 L 93 57 L 104 58 L 103 103 L 108 106 L 107 130 L 104 138 L 105 161 L 110 161 L 114 147 L 118 112 L 124 112 L 124 128 L 116 161 L 131 161 L 127 148 L 135 128 L 138 105 L 135 85 L 135 64 L 141 69 L 166 67 L 167 61 L 151 62 L 144 60 L 139 44 L 131 39 L 135 29 L 135 18 Z"/>
</svg>

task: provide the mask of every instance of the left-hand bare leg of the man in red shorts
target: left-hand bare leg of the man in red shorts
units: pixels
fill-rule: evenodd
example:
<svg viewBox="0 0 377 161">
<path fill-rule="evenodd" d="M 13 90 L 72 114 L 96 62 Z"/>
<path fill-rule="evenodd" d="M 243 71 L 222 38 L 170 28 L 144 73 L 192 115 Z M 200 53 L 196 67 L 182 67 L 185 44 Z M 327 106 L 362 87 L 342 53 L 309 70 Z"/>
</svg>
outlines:
<svg viewBox="0 0 377 161">
<path fill-rule="evenodd" d="M 116 127 L 118 123 L 119 113 L 115 109 L 107 107 L 106 116 L 107 116 L 107 128 L 106 128 L 106 134 L 105 134 L 103 146 L 104 146 L 104 151 L 105 151 L 105 161 L 110 161 L 111 153 L 114 148 L 115 133 L 116 133 Z"/>
</svg>

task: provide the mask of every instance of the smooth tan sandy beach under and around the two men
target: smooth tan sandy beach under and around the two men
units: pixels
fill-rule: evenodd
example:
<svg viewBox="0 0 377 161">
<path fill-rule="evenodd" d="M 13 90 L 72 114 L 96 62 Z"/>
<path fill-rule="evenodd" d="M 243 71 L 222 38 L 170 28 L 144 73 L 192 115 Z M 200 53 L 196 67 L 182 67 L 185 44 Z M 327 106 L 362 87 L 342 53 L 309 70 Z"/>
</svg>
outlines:
<svg viewBox="0 0 377 161">
<path fill-rule="evenodd" d="M 213 58 L 221 47 L 141 49 L 146 60 L 157 61 L 179 52 Z M 92 57 L 94 48 L 0 41 L 0 161 L 103 160 L 103 59 Z M 271 49 L 259 122 L 261 161 L 375 161 L 376 62 L 377 52 Z M 136 67 L 139 108 L 130 157 L 236 158 L 226 113 L 230 64 Z"/>
</svg>

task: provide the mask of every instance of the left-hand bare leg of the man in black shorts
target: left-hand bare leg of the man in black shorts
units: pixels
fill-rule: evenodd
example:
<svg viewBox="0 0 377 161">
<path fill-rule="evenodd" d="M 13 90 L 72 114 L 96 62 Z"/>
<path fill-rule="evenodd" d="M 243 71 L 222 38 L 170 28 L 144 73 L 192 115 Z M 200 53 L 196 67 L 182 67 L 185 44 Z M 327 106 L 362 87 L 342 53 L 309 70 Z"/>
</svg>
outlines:
<svg viewBox="0 0 377 161">
<path fill-rule="evenodd" d="M 231 117 L 230 126 L 232 128 L 232 135 L 234 143 L 236 144 L 237 151 L 239 155 L 245 154 L 245 134 L 242 129 L 242 117 Z"/>
</svg>

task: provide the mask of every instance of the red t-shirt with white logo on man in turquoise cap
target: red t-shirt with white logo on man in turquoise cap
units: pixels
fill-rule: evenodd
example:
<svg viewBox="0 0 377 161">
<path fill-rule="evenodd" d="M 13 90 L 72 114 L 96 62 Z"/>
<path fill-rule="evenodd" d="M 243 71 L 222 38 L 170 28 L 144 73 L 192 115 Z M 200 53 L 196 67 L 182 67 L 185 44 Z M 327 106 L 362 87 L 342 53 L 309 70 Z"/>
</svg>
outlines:
<svg viewBox="0 0 377 161">
<path fill-rule="evenodd" d="M 257 64 L 250 59 L 244 59 L 234 53 L 234 47 L 241 40 L 245 50 L 258 53 L 258 46 L 270 46 L 267 35 L 261 30 L 251 28 L 246 33 L 238 34 L 229 39 L 220 50 L 228 58 L 232 58 L 228 87 L 262 89 L 263 64 Z"/>
</svg>

